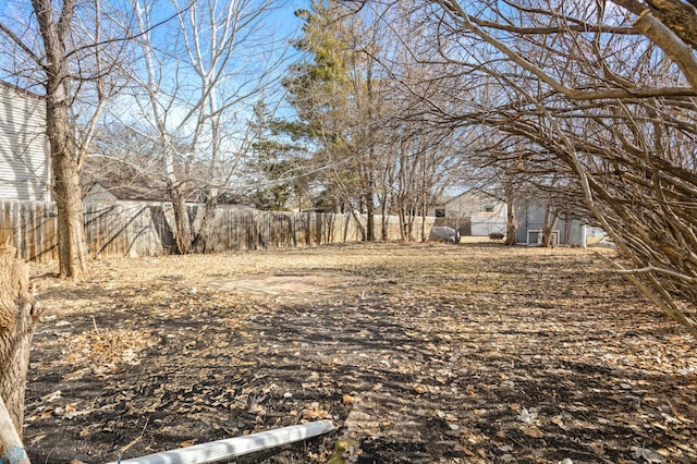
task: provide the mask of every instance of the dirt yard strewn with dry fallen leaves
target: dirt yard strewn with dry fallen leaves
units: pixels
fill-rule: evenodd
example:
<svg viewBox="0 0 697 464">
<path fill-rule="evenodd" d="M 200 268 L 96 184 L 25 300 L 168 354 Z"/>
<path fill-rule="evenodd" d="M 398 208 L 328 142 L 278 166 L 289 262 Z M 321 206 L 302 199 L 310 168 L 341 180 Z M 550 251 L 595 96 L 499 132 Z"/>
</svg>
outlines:
<svg viewBox="0 0 697 464">
<path fill-rule="evenodd" d="M 81 285 L 52 271 L 34 268 L 34 463 L 319 419 L 337 431 L 237 462 L 323 463 L 338 443 L 347 463 L 697 462 L 695 338 L 591 252 L 352 245 L 94 262 Z"/>
</svg>

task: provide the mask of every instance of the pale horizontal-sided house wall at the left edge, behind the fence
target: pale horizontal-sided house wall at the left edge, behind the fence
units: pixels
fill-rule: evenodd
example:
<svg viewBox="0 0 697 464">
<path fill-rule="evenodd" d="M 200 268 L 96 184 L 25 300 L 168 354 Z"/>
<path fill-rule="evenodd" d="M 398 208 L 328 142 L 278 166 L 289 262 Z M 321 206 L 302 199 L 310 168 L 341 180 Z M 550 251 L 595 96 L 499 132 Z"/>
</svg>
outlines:
<svg viewBox="0 0 697 464">
<path fill-rule="evenodd" d="M 0 81 L 0 200 L 51 199 L 44 98 Z"/>
</svg>

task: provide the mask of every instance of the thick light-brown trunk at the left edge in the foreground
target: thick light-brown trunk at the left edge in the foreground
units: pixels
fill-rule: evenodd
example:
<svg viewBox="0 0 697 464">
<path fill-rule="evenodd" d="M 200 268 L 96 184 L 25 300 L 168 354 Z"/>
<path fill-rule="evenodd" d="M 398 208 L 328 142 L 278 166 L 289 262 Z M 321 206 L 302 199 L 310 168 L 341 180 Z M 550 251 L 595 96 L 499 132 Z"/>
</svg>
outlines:
<svg viewBox="0 0 697 464">
<path fill-rule="evenodd" d="M 15 255 L 15 248 L 0 247 L 0 395 L 21 435 L 29 349 L 39 312 L 28 267 Z"/>
</svg>

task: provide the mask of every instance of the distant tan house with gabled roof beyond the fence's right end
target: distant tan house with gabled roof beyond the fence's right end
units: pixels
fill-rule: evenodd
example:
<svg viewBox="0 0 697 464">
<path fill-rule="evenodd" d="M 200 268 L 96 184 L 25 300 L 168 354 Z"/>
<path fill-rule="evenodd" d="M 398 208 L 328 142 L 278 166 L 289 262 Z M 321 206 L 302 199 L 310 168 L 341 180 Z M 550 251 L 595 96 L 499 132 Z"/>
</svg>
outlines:
<svg viewBox="0 0 697 464">
<path fill-rule="evenodd" d="M 506 210 L 502 192 L 470 188 L 456 196 L 439 197 L 429 216 L 436 217 L 437 225 L 449 225 L 461 235 L 486 236 L 505 233 Z"/>
</svg>

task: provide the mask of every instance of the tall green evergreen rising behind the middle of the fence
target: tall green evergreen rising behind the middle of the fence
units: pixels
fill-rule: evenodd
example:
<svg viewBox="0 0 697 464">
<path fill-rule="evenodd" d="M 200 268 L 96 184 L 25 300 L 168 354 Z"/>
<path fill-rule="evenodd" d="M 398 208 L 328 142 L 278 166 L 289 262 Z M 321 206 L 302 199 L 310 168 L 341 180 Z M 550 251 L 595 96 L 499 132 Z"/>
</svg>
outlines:
<svg viewBox="0 0 697 464">
<path fill-rule="evenodd" d="M 319 203 L 335 211 L 365 212 L 364 237 L 375 239 L 376 154 L 371 119 L 370 35 L 360 19 L 337 2 L 314 1 L 296 14 L 305 22 L 294 46 L 304 58 L 284 80 L 289 101 L 313 134 L 314 162 L 321 172 Z M 319 206 L 319 204 L 318 204 Z"/>
</svg>

